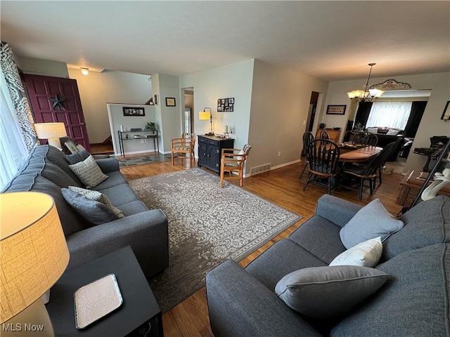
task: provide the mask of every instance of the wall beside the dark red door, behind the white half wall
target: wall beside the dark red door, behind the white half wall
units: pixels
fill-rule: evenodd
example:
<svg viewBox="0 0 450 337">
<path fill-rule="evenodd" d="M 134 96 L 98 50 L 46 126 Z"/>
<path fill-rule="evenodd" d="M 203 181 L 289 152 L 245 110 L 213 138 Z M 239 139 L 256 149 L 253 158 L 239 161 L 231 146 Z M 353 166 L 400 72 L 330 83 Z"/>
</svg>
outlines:
<svg viewBox="0 0 450 337">
<path fill-rule="evenodd" d="M 144 104 L 152 97 L 146 74 L 106 71 L 85 76 L 69 69 L 69 76 L 77 80 L 90 143 L 102 143 L 110 136 L 106 103 Z"/>
</svg>

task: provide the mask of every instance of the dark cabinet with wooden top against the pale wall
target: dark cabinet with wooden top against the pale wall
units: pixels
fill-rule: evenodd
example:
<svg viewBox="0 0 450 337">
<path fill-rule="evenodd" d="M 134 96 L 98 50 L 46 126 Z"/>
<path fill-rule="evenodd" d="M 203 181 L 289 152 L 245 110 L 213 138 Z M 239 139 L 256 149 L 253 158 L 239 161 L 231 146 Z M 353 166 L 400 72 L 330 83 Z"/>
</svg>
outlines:
<svg viewBox="0 0 450 337">
<path fill-rule="evenodd" d="M 203 166 L 219 173 L 222 149 L 232 149 L 233 146 L 234 139 L 232 138 L 198 136 L 198 166 Z"/>
</svg>

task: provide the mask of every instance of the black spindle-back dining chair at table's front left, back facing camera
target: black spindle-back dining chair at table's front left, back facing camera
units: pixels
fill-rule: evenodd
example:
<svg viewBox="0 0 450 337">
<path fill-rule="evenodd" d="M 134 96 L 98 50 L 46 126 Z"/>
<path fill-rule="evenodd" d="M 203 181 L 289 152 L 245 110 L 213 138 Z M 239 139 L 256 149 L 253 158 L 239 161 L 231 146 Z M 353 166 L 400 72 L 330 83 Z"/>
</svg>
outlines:
<svg viewBox="0 0 450 337">
<path fill-rule="evenodd" d="M 339 163 L 340 150 L 336 143 L 326 139 L 315 139 L 309 143 L 307 148 L 307 159 L 309 161 L 309 174 L 303 190 L 306 190 L 311 178 L 328 178 L 328 194 L 331 194 L 331 183 L 340 173 Z M 324 185 L 319 183 L 319 185 Z"/>
</svg>

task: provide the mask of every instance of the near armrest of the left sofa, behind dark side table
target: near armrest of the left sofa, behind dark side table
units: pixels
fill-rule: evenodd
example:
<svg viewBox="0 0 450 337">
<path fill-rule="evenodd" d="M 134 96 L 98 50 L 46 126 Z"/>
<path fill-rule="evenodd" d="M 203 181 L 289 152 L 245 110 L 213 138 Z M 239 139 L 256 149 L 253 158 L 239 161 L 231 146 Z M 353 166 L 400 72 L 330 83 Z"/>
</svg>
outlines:
<svg viewBox="0 0 450 337">
<path fill-rule="evenodd" d="M 80 230 L 66 237 L 70 251 L 68 268 L 82 265 L 124 246 L 131 246 L 146 277 L 169 265 L 169 230 L 160 209 L 126 216 Z"/>
</svg>

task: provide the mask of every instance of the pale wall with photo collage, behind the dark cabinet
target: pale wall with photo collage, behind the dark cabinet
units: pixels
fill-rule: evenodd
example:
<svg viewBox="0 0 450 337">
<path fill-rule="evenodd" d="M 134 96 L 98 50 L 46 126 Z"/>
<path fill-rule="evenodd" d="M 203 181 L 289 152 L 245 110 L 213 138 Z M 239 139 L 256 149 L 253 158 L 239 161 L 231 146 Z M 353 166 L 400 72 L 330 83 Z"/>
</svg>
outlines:
<svg viewBox="0 0 450 337">
<path fill-rule="evenodd" d="M 248 143 L 253 64 L 253 59 L 245 60 L 179 77 L 180 88 L 193 87 L 194 133 L 202 135 L 210 131 L 210 121 L 198 119 L 198 111 L 210 107 L 214 133 L 224 133 L 225 125 L 228 125 L 236 131 L 233 136 L 236 148 Z M 233 112 L 217 112 L 217 99 L 231 97 L 234 98 Z"/>
</svg>

